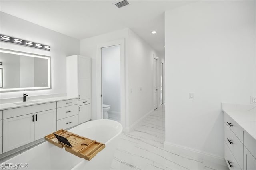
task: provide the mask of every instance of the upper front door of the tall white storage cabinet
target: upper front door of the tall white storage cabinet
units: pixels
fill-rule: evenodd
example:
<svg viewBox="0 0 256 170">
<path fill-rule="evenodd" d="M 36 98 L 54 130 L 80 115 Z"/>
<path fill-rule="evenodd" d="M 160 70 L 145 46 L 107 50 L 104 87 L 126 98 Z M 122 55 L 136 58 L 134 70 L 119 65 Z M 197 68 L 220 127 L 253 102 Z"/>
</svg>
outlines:
<svg viewBox="0 0 256 170">
<path fill-rule="evenodd" d="M 80 100 L 91 98 L 91 60 L 78 56 L 78 95 Z"/>
</svg>

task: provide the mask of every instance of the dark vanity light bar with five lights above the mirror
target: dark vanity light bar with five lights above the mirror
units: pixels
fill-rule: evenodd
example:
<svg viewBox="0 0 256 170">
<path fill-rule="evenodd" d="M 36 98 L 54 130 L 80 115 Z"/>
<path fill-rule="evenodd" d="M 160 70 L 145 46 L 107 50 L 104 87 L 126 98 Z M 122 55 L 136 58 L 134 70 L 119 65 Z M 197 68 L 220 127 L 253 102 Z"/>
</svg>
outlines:
<svg viewBox="0 0 256 170">
<path fill-rule="evenodd" d="M 21 40 L 18 38 L 13 38 L 13 37 L 9 37 L 9 36 L 5 36 L 0 34 L 0 40 L 4 41 L 4 42 L 10 42 L 10 43 L 16 43 L 16 44 L 20 44 L 20 45 L 25 45 L 28 47 L 34 47 L 34 48 L 38 48 L 38 49 L 44 49 L 47 51 L 50 51 L 51 47 L 49 45 L 43 45 L 40 43 L 35 43 L 35 42 L 30 42 L 27 40 Z"/>
</svg>

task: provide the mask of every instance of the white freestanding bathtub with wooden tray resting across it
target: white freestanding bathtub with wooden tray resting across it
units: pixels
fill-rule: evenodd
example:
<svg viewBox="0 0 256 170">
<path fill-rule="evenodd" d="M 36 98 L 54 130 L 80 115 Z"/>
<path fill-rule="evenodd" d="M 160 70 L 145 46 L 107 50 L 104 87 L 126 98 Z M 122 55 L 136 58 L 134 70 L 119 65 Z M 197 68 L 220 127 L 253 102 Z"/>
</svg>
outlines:
<svg viewBox="0 0 256 170">
<path fill-rule="evenodd" d="M 122 129 L 123 127 L 120 123 L 102 119 L 89 121 L 68 130 L 72 133 L 102 142 L 106 145 L 106 147 L 96 154 L 90 161 L 70 154 L 69 152 L 66 152 L 64 148 L 58 148 L 46 141 L 2 164 L 11 163 L 15 165 L 16 163 L 27 163 L 27 168 L 18 168 L 26 170 L 110 169 Z"/>
</svg>

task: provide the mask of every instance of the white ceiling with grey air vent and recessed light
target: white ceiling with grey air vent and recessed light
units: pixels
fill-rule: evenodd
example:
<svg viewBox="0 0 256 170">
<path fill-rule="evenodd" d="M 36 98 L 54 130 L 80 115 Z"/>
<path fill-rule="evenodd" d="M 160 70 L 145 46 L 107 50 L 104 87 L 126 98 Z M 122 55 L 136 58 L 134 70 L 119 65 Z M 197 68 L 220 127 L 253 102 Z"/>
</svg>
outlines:
<svg viewBox="0 0 256 170">
<path fill-rule="evenodd" d="M 187 1 L 0 1 L 0 10 L 56 32 L 84 39 L 122 28 L 131 28 L 164 55 L 164 11 Z M 156 30 L 156 34 L 151 34 Z"/>
</svg>

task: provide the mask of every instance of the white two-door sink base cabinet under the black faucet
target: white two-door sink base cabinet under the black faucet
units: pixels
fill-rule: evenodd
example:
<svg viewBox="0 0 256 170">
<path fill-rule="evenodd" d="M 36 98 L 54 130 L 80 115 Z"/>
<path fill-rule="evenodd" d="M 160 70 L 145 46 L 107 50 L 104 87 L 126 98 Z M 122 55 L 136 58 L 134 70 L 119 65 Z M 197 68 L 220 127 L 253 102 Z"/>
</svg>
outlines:
<svg viewBox="0 0 256 170">
<path fill-rule="evenodd" d="M 3 152 L 56 131 L 56 102 L 3 111 Z"/>
</svg>

